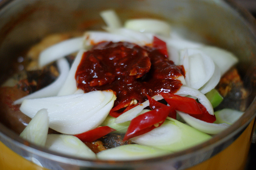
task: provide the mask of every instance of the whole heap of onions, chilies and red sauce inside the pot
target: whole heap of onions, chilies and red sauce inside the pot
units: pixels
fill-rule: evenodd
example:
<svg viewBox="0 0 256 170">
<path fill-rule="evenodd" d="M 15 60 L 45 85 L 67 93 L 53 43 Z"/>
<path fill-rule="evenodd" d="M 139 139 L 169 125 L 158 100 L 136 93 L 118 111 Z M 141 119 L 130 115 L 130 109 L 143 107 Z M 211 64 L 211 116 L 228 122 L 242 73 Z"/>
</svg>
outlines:
<svg viewBox="0 0 256 170">
<path fill-rule="evenodd" d="M 232 53 L 165 21 L 100 15 L 103 31 L 53 35 L 29 50 L 0 89 L 1 122 L 56 152 L 132 160 L 203 143 L 243 114 L 222 104 L 233 87 L 246 95 Z"/>
</svg>

